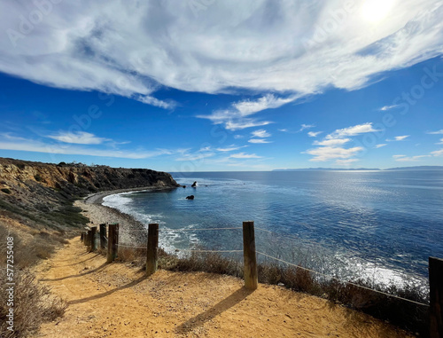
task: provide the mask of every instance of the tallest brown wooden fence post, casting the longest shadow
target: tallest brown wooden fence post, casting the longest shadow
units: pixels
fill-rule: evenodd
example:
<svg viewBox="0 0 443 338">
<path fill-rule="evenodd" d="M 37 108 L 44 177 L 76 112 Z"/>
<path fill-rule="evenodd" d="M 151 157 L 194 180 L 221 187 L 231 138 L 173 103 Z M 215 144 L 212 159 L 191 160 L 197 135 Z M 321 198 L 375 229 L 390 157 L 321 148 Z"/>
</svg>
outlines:
<svg viewBox="0 0 443 338">
<path fill-rule="evenodd" d="M 255 255 L 255 235 L 253 221 L 243 222 L 243 259 L 245 263 L 245 287 L 257 289 L 259 279 L 257 274 L 257 257 Z"/>
</svg>

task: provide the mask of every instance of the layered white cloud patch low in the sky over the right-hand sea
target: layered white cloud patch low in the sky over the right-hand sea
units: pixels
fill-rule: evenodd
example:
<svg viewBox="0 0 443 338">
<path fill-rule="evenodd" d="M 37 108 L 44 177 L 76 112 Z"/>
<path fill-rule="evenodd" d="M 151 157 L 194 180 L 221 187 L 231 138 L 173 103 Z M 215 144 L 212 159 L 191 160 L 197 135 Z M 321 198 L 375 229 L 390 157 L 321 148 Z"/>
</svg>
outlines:
<svg viewBox="0 0 443 338">
<path fill-rule="evenodd" d="M 318 147 L 303 153 L 314 156 L 309 161 L 335 161 L 338 165 L 348 165 L 357 161 L 354 156 L 363 150 L 361 146 L 346 148 L 345 145 L 352 141 L 350 137 L 376 131 L 370 122 L 335 130 L 313 143 Z"/>
</svg>

